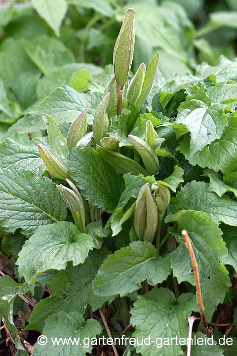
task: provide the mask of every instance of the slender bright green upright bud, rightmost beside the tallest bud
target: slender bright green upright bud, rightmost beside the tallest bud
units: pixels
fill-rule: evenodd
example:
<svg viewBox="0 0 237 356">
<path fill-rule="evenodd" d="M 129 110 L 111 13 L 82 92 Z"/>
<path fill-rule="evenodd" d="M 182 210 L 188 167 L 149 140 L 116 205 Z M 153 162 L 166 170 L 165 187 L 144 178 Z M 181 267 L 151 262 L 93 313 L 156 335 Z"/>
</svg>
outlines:
<svg viewBox="0 0 237 356">
<path fill-rule="evenodd" d="M 154 79 L 156 77 L 156 72 L 158 68 L 159 53 L 155 55 L 150 66 L 147 68 L 146 75 L 144 78 L 141 94 L 136 101 L 136 106 L 138 108 L 146 102 L 147 96 L 152 89 Z"/>
</svg>

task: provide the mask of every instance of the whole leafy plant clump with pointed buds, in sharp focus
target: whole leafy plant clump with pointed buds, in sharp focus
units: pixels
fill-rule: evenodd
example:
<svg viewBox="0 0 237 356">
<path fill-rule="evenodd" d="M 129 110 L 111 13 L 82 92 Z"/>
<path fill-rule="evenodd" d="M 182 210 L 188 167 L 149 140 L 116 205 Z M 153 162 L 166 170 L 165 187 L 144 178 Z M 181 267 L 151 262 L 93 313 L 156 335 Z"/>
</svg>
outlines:
<svg viewBox="0 0 237 356">
<path fill-rule="evenodd" d="M 1 272 L 0 315 L 12 355 L 190 355 L 167 339 L 187 339 L 191 315 L 193 337 L 213 337 L 193 356 L 236 355 L 237 62 L 221 56 L 166 81 L 156 53 L 133 75 L 135 16 L 126 10 L 113 66 L 83 92 L 53 88 L 0 143 L 1 250 L 15 274 Z M 135 342 L 95 341 L 122 335 Z M 52 342 L 70 337 L 90 340 Z"/>
</svg>

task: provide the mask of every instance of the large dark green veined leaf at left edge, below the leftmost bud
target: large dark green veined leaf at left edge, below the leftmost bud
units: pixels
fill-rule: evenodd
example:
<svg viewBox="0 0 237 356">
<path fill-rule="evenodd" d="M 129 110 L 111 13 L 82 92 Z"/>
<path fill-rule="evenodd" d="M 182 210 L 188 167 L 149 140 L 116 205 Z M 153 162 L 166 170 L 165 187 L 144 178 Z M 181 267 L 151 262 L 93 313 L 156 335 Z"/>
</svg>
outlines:
<svg viewBox="0 0 237 356">
<path fill-rule="evenodd" d="M 0 226 L 32 234 L 40 225 L 64 220 L 67 207 L 55 184 L 24 170 L 0 169 Z"/>
</svg>

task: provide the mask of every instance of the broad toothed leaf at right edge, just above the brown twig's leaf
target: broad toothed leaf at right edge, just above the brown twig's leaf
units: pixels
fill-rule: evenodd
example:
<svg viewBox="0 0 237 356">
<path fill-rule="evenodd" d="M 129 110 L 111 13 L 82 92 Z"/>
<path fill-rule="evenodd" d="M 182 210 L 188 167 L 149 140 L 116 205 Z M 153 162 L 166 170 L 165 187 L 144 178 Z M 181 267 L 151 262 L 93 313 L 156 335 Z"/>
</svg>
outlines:
<svg viewBox="0 0 237 356">
<path fill-rule="evenodd" d="M 237 201 L 224 195 L 220 198 L 216 193 L 208 191 L 209 184 L 193 180 L 187 183 L 172 198 L 167 209 L 166 221 L 169 216 L 180 210 L 196 210 L 208 215 L 215 222 L 237 225 Z"/>
</svg>

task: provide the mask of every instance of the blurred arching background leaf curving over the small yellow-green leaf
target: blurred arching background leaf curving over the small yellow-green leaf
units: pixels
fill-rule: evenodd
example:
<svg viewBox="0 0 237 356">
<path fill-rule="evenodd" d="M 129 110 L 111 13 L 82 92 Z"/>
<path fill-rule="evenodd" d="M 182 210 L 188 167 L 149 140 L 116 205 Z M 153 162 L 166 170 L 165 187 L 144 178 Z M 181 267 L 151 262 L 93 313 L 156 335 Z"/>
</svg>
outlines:
<svg viewBox="0 0 237 356">
<path fill-rule="evenodd" d="M 69 85 L 72 75 L 79 71 L 85 71 L 92 76 L 101 73 L 102 68 L 91 63 L 69 63 L 50 71 L 39 81 L 37 87 L 38 98 L 41 99 L 46 97 L 51 91 L 60 86 Z"/>
</svg>

